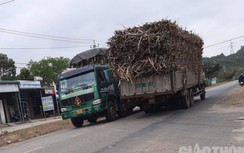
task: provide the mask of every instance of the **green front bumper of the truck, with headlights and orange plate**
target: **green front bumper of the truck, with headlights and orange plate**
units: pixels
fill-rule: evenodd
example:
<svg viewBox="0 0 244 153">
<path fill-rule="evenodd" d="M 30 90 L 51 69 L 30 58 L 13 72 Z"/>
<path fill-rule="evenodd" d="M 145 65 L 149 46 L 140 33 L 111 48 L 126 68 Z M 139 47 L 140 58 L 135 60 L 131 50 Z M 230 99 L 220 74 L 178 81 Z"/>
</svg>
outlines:
<svg viewBox="0 0 244 153">
<path fill-rule="evenodd" d="M 99 114 L 104 112 L 105 110 L 105 105 L 104 104 L 99 104 L 95 105 L 92 107 L 86 107 L 86 108 L 79 108 L 79 109 L 74 109 L 72 111 L 67 111 L 61 113 L 62 119 L 70 119 L 74 117 L 84 117 L 86 118 L 87 116 L 92 116 L 93 114 Z"/>
</svg>

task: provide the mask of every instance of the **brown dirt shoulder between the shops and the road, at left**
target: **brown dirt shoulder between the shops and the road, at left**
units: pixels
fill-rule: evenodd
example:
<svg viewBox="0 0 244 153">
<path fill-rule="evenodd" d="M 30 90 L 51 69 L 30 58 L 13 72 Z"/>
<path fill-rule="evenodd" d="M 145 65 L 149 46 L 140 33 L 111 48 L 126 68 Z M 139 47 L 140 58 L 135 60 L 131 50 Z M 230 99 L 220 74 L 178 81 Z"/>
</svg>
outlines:
<svg viewBox="0 0 244 153">
<path fill-rule="evenodd" d="M 69 120 L 61 120 L 9 133 L 7 131 L 0 131 L 0 147 L 66 129 L 68 127 L 72 127 L 71 122 Z"/>
</svg>

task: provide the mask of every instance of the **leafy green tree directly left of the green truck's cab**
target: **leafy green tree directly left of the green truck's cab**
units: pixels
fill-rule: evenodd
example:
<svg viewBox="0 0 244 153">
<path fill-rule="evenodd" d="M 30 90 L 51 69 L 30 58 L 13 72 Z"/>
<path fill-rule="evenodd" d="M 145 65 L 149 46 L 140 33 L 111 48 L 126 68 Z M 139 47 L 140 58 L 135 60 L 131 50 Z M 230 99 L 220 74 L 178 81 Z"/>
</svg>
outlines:
<svg viewBox="0 0 244 153">
<path fill-rule="evenodd" d="M 69 59 L 64 57 L 51 58 L 47 57 L 39 62 L 30 61 L 28 69 L 32 76 L 42 77 L 42 85 L 50 86 L 53 82 L 57 82 L 58 75 L 68 67 Z"/>
</svg>

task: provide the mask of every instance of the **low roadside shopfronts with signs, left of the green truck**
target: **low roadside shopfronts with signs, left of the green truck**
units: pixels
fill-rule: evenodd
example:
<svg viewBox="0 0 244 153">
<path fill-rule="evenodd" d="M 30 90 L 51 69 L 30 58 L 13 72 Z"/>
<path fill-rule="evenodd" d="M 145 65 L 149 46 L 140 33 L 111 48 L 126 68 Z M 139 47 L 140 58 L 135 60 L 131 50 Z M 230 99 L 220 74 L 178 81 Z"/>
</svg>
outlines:
<svg viewBox="0 0 244 153">
<path fill-rule="evenodd" d="M 42 88 L 40 81 L 0 80 L 0 124 L 48 117 L 44 115 L 42 99 L 53 97 L 52 89 Z M 56 104 L 53 105 L 57 110 Z M 53 115 L 55 112 L 45 113 Z"/>
</svg>

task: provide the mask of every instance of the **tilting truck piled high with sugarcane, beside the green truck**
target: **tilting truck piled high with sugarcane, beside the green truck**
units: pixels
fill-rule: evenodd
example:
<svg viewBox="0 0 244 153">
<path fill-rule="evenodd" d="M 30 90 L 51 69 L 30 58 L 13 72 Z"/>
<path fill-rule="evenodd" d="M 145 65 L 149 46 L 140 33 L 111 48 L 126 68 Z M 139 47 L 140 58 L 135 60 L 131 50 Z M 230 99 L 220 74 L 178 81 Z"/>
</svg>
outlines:
<svg viewBox="0 0 244 153">
<path fill-rule="evenodd" d="M 125 108 L 139 106 L 147 113 L 172 104 L 189 108 L 194 96 L 205 99 L 203 40 L 176 22 L 115 31 L 108 45 Z"/>
</svg>

